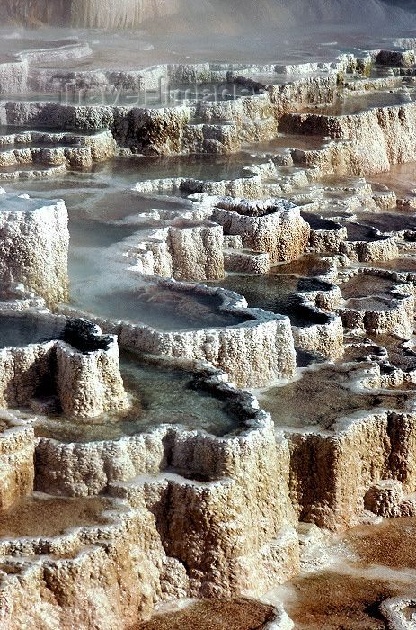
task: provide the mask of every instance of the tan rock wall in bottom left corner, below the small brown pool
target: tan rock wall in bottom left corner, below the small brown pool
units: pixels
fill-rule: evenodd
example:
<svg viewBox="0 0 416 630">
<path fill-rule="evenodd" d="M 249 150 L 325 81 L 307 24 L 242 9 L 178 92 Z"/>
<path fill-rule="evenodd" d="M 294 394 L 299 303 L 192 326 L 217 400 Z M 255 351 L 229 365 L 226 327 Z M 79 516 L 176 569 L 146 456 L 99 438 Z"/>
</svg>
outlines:
<svg viewBox="0 0 416 630">
<path fill-rule="evenodd" d="M 34 545 L 26 539 L 26 563 L 0 585 L 4 627 L 89 630 L 93 617 L 100 630 L 124 630 L 148 616 L 155 601 L 186 596 L 186 572 L 166 557 L 146 508 L 121 514 L 114 526 L 83 529 L 69 536 L 72 543 L 68 536 L 35 539 Z M 41 555 L 42 545 L 52 557 Z"/>
</svg>

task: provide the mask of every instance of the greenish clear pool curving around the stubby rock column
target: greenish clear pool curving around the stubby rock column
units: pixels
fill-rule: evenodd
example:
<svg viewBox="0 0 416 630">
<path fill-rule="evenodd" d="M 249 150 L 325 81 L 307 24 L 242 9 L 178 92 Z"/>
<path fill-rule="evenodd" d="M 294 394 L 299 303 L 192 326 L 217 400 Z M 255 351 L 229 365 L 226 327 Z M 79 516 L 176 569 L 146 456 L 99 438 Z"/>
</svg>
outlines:
<svg viewBox="0 0 416 630">
<path fill-rule="evenodd" d="M 195 374 L 186 369 L 146 361 L 136 354 L 122 353 L 120 370 L 132 400 L 124 414 L 98 419 L 69 419 L 50 416 L 35 425 L 37 437 L 62 442 L 115 440 L 157 428 L 180 424 L 190 430 L 226 435 L 240 425 L 226 402 L 195 386 Z"/>
</svg>

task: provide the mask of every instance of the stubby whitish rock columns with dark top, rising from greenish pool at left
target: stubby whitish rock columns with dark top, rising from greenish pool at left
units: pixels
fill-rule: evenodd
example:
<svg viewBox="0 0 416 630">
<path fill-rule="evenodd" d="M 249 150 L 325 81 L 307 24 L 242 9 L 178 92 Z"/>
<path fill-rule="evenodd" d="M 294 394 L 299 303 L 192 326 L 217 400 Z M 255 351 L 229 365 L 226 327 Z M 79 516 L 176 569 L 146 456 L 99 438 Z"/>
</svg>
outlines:
<svg viewBox="0 0 416 630">
<path fill-rule="evenodd" d="M 2 315 L 7 316 L 9 326 L 11 318 L 16 327 L 25 325 L 24 313 L 3 311 Z M 31 405 L 45 388 L 58 397 L 61 409 L 72 416 L 92 418 L 103 411 L 128 407 L 115 338 L 102 338 L 105 340 L 102 347 L 85 348 L 82 340 L 68 336 L 65 318 L 45 311 L 35 311 L 31 318 L 40 325 L 49 325 L 51 340 L 0 349 L 0 405 L 3 408 Z M 99 338 L 100 329 L 97 327 L 94 332 L 94 338 Z M 78 347 L 71 346 L 65 339 L 77 343 Z"/>
</svg>

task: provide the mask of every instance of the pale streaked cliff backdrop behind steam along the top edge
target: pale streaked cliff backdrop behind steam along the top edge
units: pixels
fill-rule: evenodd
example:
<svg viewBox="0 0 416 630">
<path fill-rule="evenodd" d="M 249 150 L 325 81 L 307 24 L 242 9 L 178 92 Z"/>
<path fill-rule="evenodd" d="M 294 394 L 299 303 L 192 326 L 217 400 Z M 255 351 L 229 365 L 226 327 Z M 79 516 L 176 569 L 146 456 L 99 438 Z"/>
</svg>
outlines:
<svg viewBox="0 0 416 630">
<path fill-rule="evenodd" d="M 158 31 L 214 28 L 235 34 L 305 23 L 367 23 L 373 28 L 392 21 L 405 24 L 396 4 L 393 8 L 381 0 L 1 0 L 0 17 L 25 26 L 116 30 L 145 24 Z"/>
</svg>

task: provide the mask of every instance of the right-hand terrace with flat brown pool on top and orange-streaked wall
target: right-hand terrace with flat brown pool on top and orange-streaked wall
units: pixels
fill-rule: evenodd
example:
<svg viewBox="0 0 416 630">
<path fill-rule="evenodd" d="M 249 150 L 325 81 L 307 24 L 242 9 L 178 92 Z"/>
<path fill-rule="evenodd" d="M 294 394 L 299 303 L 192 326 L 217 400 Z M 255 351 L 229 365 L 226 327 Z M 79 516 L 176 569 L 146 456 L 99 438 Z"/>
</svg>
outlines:
<svg viewBox="0 0 416 630">
<path fill-rule="evenodd" d="M 318 527 L 357 524 L 367 491 L 381 480 L 415 489 L 413 386 L 381 357 L 380 364 L 366 355 L 363 347 L 359 363 L 312 365 L 297 383 L 259 396 L 288 438 L 298 517 Z"/>
</svg>

